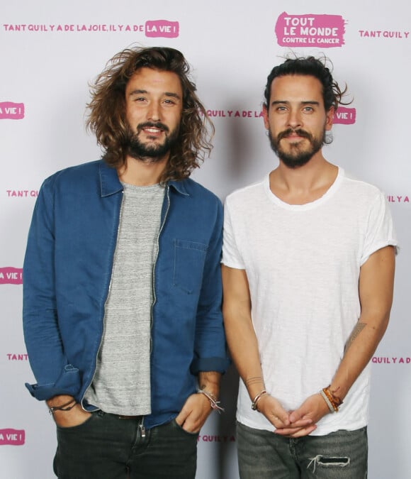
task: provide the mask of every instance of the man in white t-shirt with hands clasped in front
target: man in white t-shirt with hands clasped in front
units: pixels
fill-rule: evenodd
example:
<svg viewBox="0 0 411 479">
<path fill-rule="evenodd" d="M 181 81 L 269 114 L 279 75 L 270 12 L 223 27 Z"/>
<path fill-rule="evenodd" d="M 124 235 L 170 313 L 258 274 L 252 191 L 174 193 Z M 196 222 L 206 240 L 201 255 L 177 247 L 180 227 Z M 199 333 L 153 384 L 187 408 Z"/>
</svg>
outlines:
<svg viewBox="0 0 411 479">
<path fill-rule="evenodd" d="M 263 109 L 279 165 L 226 200 L 242 479 L 366 478 L 369 361 L 397 240 L 383 194 L 322 155 L 344 93 L 314 57 L 274 67 Z"/>
</svg>

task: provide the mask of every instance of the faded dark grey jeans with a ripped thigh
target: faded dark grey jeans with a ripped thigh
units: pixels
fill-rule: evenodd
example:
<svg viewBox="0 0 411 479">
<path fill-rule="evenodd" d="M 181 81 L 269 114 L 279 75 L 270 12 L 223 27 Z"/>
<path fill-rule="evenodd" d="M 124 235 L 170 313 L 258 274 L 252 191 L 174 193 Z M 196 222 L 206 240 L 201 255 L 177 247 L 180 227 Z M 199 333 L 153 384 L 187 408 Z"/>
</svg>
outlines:
<svg viewBox="0 0 411 479">
<path fill-rule="evenodd" d="M 366 427 L 289 439 L 237 422 L 242 479 L 366 479 Z"/>
</svg>

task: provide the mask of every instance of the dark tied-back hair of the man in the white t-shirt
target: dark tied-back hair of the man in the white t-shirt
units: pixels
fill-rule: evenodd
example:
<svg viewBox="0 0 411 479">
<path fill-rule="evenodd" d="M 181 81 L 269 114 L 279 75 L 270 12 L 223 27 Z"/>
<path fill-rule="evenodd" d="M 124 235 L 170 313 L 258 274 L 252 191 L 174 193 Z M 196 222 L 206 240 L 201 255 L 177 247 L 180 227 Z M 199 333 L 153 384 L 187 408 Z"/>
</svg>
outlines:
<svg viewBox="0 0 411 479">
<path fill-rule="evenodd" d="M 351 101 L 343 102 L 342 98 L 347 93 L 347 85 L 344 90 L 339 88 L 338 83 L 332 78 L 330 69 L 327 68 L 326 57 L 322 60 L 315 57 L 296 57 L 287 58 L 281 65 L 277 65 L 271 70 L 264 90 L 264 106 L 269 109 L 271 84 L 276 77 L 286 75 L 310 75 L 320 80 L 322 84 L 322 99 L 324 101 L 325 111 L 334 106 L 337 111 L 338 105 L 348 105 Z"/>
</svg>

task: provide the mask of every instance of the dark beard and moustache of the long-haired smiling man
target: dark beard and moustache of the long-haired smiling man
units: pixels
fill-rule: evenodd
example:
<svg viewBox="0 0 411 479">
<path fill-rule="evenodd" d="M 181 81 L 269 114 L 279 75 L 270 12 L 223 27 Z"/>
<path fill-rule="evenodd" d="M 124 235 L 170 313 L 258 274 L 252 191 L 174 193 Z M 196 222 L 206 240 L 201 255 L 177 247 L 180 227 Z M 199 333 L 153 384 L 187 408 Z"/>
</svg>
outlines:
<svg viewBox="0 0 411 479">
<path fill-rule="evenodd" d="M 139 138 L 140 131 L 143 128 L 159 128 L 160 130 L 166 133 L 163 143 L 152 143 L 146 144 L 142 143 Z M 169 134 L 167 134 L 169 133 Z M 176 141 L 179 136 L 179 127 L 174 128 L 171 132 L 167 125 L 160 123 L 159 121 L 152 123 L 147 121 L 146 123 L 140 123 L 137 126 L 137 133 L 131 131 L 130 126 L 128 127 L 128 136 L 127 136 L 127 153 L 135 160 L 142 160 L 147 163 L 157 163 L 164 159 L 164 156 L 170 152 L 171 148 L 176 144 Z"/>
</svg>

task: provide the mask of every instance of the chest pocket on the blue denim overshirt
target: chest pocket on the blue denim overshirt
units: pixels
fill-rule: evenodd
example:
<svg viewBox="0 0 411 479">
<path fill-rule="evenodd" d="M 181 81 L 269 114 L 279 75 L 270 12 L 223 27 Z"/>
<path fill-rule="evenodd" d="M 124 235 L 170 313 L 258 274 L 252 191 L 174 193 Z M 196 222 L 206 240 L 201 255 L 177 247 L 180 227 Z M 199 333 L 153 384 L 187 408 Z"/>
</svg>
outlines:
<svg viewBox="0 0 411 479">
<path fill-rule="evenodd" d="M 174 240 L 173 286 L 188 294 L 200 292 L 207 250 L 208 245 L 203 243 Z"/>
</svg>

